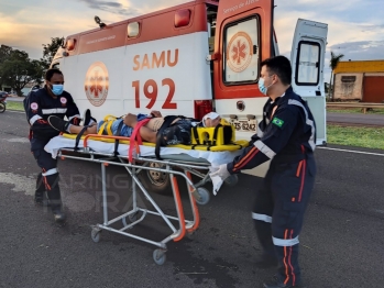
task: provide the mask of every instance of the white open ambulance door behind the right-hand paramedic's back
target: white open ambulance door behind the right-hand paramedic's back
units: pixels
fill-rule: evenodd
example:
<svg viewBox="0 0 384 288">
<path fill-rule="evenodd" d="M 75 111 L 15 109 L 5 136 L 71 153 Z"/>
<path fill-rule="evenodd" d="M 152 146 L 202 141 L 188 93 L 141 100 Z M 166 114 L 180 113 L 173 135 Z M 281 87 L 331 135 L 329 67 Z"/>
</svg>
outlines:
<svg viewBox="0 0 384 288">
<path fill-rule="evenodd" d="M 294 91 L 308 102 L 317 128 L 317 145 L 327 143 L 327 106 L 323 85 L 328 25 L 299 19 L 290 52 Z"/>
</svg>

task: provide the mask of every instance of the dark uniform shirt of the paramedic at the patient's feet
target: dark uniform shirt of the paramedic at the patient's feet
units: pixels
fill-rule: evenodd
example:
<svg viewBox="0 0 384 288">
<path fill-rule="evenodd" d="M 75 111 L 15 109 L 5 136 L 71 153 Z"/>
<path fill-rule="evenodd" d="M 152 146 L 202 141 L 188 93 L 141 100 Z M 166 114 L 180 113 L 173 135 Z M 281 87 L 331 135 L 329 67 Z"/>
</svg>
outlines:
<svg viewBox="0 0 384 288">
<path fill-rule="evenodd" d="M 24 99 L 24 110 L 26 120 L 31 125 L 30 139 L 48 141 L 57 136 L 59 132 L 53 129 L 47 119 L 50 115 L 56 115 L 61 119 L 67 117 L 69 121 L 80 119 L 77 106 L 70 93 L 63 91 L 62 95 L 53 98 L 46 86 L 39 90 L 33 90 Z"/>
</svg>

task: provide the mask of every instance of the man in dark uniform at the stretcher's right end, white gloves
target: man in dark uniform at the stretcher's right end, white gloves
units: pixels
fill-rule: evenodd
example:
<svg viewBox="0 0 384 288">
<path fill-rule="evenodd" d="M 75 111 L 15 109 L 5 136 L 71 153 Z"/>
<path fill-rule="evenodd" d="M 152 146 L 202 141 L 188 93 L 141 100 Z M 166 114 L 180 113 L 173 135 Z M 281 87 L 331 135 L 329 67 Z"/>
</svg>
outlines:
<svg viewBox="0 0 384 288">
<path fill-rule="evenodd" d="M 226 179 L 271 159 L 252 213 L 263 247 L 257 266 L 278 266 L 272 283 L 264 284 L 266 288 L 300 287 L 298 236 L 315 182 L 315 121 L 290 87 L 289 60 L 277 56 L 262 62 L 261 67 L 259 87 L 268 100 L 257 134 L 240 156 L 213 168 L 211 176 Z"/>
</svg>

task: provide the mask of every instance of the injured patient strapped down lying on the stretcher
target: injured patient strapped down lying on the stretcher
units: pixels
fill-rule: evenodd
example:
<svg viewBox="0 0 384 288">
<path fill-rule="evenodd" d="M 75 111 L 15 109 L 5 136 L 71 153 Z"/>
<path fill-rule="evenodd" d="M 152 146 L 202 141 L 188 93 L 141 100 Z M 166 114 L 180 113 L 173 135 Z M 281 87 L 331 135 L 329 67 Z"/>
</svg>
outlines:
<svg viewBox="0 0 384 288">
<path fill-rule="evenodd" d="M 70 134 L 103 134 L 106 128 L 110 128 L 110 132 L 114 136 L 130 137 L 134 131 L 134 128 L 139 122 L 150 119 L 139 130 L 140 136 L 143 141 L 156 143 L 157 132 L 161 130 L 165 122 L 165 118 L 158 111 L 152 111 L 151 115 L 147 114 L 131 114 L 110 120 L 113 121 L 110 125 L 106 125 L 105 121 L 96 121 L 91 118 L 90 110 L 87 109 L 84 115 L 84 126 L 73 125 L 68 121 L 59 119 L 57 117 L 50 117 L 48 123 L 54 129 L 70 133 Z M 168 126 L 162 129 L 162 139 L 164 140 L 164 145 L 177 145 L 177 144 L 190 144 L 190 131 L 193 126 L 207 126 L 213 128 L 220 124 L 220 115 L 215 112 L 210 112 L 202 118 L 202 121 L 195 119 L 174 117 Z M 109 123 L 107 123 L 109 124 Z M 101 131 L 101 133 L 100 133 Z M 106 131 L 107 132 L 107 131 Z M 107 133 L 105 133 L 107 134 Z"/>
</svg>

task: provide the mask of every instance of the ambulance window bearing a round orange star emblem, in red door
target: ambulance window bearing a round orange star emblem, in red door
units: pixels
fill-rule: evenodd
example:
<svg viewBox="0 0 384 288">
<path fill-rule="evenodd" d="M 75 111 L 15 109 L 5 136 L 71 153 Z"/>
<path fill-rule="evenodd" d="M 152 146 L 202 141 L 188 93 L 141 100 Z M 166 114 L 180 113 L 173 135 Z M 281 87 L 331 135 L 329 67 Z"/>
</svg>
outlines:
<svg viewBox="0 0 384 288">
<path fill-rule="evenodd" d="M 227 85 L 254 82 L 259 78 L 259 18 L 252 16 L 224 29 L 223 80 Z"/>
</svg>

